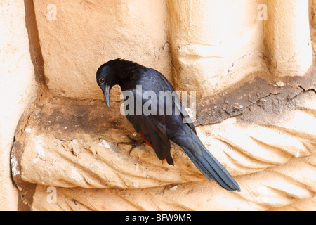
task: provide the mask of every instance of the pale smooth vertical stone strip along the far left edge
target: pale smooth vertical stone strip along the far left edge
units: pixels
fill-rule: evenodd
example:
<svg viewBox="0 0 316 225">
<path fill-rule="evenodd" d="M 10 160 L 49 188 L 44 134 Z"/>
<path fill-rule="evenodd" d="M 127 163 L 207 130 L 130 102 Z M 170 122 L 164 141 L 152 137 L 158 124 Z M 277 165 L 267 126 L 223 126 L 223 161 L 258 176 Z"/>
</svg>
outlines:
<svg viewBox="0 0 316 225">
<path fill-rule="evenodd" d="M 18 120 L 34 101 L 36 85 L 23 2 L 1 1 L 0 15 L 0 210 L 16 210 L 10 153 Z"/>
</svg>

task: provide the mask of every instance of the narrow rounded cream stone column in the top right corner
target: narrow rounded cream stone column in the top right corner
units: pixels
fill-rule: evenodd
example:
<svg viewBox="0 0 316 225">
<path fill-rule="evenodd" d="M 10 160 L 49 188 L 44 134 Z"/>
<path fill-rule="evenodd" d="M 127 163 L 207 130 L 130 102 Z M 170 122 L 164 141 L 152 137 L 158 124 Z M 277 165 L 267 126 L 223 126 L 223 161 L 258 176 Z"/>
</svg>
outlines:
<svg viewBox="0 0 316 225">
<path fill-rule="evenodd" d="M 265 1 L 265 53 L 276 76 L 304 75 L 312 64 L 308 0 Z"/>
</svg>

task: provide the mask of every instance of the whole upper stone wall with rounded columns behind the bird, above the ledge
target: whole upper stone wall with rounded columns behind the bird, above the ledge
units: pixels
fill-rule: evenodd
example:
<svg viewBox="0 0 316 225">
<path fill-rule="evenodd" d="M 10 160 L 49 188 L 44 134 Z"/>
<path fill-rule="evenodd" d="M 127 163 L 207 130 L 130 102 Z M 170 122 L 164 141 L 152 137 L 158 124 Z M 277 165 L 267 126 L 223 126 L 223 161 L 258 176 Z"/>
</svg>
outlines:
<svg viewBox="0 0 316 225">
<path fill-rule="evenodd" d="M 199 96 L 216 95 L 251 72 L 303 75 L 312 63 L 307 0 L 36 0 L 34 6 L 46 84 L 58 96 L 100 98 L 95 70 L 114 58 L 153 67 Z"/>
</svg>

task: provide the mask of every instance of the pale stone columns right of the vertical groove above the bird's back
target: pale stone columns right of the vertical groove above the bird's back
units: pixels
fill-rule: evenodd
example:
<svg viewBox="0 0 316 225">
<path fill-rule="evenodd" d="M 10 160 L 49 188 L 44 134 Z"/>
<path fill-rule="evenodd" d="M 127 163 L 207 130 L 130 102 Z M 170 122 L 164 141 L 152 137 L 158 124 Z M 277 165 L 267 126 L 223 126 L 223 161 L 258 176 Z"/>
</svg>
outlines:
<svg viewBox="0 0 316 225">
<path fill-rule="evenodd" d="M 213 96 L 251 73 L 304 75 L 312 64 L 308 0 L 167 3 L 178 89 Z"/>
</svg>

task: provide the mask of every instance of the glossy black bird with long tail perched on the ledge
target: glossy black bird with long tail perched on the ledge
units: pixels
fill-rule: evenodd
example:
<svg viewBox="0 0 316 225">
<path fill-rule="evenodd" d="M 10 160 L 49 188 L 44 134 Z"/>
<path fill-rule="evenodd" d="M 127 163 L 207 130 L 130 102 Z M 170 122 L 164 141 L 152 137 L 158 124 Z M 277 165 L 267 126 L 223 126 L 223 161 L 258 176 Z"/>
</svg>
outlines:
<svg viewBox="0 0 316 225">
<path fill-rule="evenodd" d="M 152 146 L 160 160 L 166 160 L 169 165 L 173 165 L 169 142 L 171 140 L 183 148 L 195 166 L 207 179 L 213 179 L 228 191 L 240 191 L 237 182 L 199 140 L 197 131 L 181 103 L 179 104 L 180 100 L 177 96 L 173 96 L 171 105 L 160 99 L 160 106 L 164 106 L 164 110 L 162 111 L 163 113 L 159 112 L 159 91 L 174 91 L 173 86 L 171 86 L 164 75 L 157 70 L 146 68 L 138 63 L 115 59 L 108 61 L 98 68 L 96 79 L 100 89 L 103 91 L 103 97 L 107 106 L 110 104 L 110 90 L 114 85 L 121 86 L 125 102 L 128 98 L 131 98 L 131 96 L 126 94 L 126 91 L 133 94 L 134 99 L 132 101 L 136 107 L 133 110 L 129 109 L 129 112 L 132 113 L 126 115 L 126 118 L 133 124 L 138 134 L 143 136 L 145 141 Z M 137 91 L 137 86 L 141 87 L 141 93 Z M 150 98 L 141 98 L 141 105 L 137 105 L 137 97 L 135 96 L 139 96 L 140 94 L 143 96 L 145 91 L 153 91 L 157 98 L 152 96 Z M 137 113 L 137 107 L 139 110 L 139 108 L 143 108 L 145 103 L 152 103 L 151 107 L 157 104 L 157 114 L 154 115 L 155 113 L 151 113 L 150 115 L 145 115 L 145 113 L 139 113 L 139 111 Z M 173 107 L 172 113 L 167 114 L 166 108 L 170 106 Z M 154 110 L 154 108 L 151 109 Z M 176 112 L 177 110 L 178 113 Z M 189 122 L 184 123 L 183 119 L 187 119 Z"/>
</svg>

